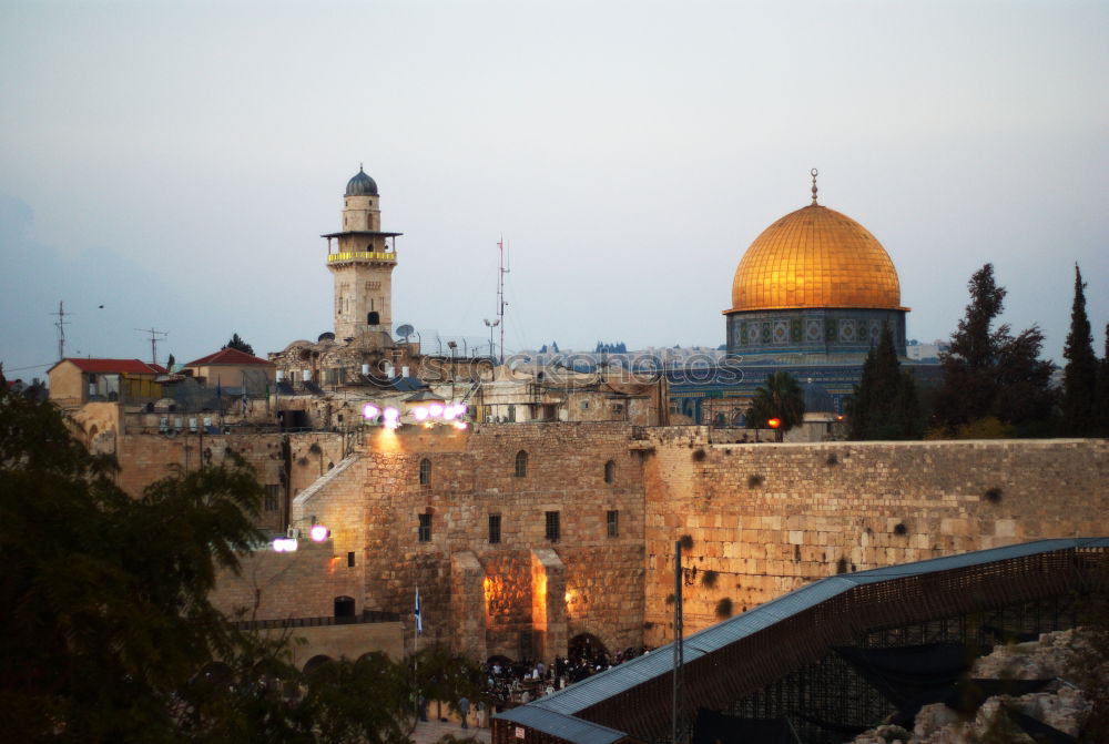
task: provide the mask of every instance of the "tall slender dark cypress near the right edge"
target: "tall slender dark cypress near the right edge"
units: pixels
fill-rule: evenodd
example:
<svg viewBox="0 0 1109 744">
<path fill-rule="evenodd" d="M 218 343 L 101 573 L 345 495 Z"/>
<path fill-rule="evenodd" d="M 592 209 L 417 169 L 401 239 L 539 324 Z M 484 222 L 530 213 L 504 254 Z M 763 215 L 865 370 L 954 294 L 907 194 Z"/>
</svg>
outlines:
<svg viewBox="0 0 1109 744">
<path fill-rule="evenodd" d="M 1098 358 L 1093 354 L 1090 320 L 1086 315 L 1086 284 L 1075 264 L 1075 302 L 1070 308 L 1070 333 L 1062 356 L 1062 431 L 1085 436 L 1097 431 Z"/>
</svg>

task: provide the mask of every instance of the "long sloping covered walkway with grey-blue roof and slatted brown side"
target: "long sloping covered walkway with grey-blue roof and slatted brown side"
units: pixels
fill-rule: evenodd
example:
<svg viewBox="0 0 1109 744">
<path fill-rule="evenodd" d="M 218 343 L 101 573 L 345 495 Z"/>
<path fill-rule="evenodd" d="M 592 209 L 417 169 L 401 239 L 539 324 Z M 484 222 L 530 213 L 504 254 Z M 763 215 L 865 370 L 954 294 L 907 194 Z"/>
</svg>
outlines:
<svg viewBox="0 0 1109 744">
<path fill-rule="evenodd" d="M 720 710 L 861 632 L 1089 589 L 1105 581 L 1089 569 L 1107 560 L 1109 538 L 1037 540 L 822 579 L 686 638 L 690 707 Z M 669 644 L 506 711 L 494 743 L 658 738 L 670 726 L 672 665 Z"/>
</svg>

